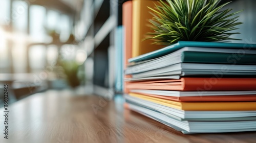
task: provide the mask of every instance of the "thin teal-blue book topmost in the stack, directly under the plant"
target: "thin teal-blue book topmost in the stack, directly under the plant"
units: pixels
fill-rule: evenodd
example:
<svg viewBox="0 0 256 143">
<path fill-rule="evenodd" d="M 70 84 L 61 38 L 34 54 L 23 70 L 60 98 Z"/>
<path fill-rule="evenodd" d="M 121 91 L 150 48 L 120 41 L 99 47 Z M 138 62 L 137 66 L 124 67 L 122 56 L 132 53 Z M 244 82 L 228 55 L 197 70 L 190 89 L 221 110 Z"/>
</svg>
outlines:
<svg viewBox="0 0 256 143">
<path fill-rule="evenodd" d="M 196 42 L 196 41 L 179 41 L 176 44 L 166 46 L 162 49 L 140 55 L 129 59 L 129 62 L 139 62 L 158 58 L 172 52 L 175 52 L 183 47 L 204 47 L 204 48 L 216 48 L 216 49 L 240 49 L 243 51 L 256 50 L 256 44 L 249 43 L 218 43 L 218 42 Z M 141 47 L 146 48 L 146 47 Z"/>
</svg>

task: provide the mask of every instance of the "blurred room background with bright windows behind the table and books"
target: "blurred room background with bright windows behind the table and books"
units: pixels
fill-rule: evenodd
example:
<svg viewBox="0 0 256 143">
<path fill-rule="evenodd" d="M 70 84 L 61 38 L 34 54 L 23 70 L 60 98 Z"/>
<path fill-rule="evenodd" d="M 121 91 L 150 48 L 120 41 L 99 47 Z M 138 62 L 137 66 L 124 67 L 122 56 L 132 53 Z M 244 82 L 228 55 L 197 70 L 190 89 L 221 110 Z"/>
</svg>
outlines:
<svg viewBox="0 0 256 143">
<path fill-rule="evenodd" d="M 114 96 L 115 31 L 124 2 L 0 0 L 1 98 L 4 84 L 10 103 L 47 89 Z M 253 0 L 228 5 L 244 10 L 242 34 L 234 36 L 243 41 L 231 42 L 256 43 L 255 6 Z"/>
</svg>

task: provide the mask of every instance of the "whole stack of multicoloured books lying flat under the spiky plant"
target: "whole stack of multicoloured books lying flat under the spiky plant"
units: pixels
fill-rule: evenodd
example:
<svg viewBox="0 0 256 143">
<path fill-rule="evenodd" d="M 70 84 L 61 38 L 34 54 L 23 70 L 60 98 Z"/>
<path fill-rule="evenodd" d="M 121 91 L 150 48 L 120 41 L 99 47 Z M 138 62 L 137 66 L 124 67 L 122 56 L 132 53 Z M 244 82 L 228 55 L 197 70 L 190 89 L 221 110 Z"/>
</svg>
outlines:
<svg viewBox="0 0 256 143">
<path fill-rule="evenodd" d="M 125 107 L 182 133 L 256 131 L 256 44 L 179 41 L 125 74 Z"/>
</svg>

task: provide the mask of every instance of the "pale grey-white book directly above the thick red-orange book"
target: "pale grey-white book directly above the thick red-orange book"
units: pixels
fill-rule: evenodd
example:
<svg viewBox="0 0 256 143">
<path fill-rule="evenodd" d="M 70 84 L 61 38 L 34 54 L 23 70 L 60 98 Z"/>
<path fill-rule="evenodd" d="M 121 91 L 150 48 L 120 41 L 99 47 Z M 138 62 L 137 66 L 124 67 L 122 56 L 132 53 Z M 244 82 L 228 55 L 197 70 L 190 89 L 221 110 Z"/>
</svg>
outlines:
<svg viewBox="0 0 256 143">
<path fill-rule="evenodd" d="M 156 76 L 204 76 L 215 75 L 251 75 L 256 76 L 256 65 L 178 63 L 143 73 L 133 73 L 133 78 Z"/>
</svg>

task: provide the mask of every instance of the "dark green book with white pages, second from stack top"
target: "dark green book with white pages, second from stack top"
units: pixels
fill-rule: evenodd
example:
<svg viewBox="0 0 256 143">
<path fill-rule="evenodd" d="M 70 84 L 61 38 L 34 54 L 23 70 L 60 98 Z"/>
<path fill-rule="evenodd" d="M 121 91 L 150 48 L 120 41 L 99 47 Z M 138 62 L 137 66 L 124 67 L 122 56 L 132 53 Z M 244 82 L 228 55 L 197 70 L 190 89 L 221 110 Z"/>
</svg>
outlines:
<svg viewBox="0 0 256 143">
<path fill-rule="evenodd" d="M 155 59 L 130 63 L 125 74 L 142 73 L 179 63 L 256 65 L 256 50 L 183 47 Z"/>
</svg>

